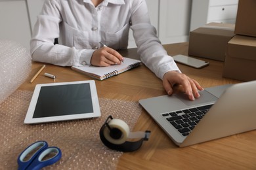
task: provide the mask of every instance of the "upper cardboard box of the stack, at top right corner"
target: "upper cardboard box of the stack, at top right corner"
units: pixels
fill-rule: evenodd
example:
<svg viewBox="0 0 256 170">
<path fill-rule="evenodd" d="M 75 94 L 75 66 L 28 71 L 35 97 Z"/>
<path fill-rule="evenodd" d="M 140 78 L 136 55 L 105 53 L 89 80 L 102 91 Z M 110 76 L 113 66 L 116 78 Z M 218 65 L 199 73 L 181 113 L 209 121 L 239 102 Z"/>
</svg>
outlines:
<svg viewBox="0 0 256 170">
<path fill-rule="evenodd" d="M 234 33 L 256 37 L 256 1 L 240 0 Z"/>
</svg>

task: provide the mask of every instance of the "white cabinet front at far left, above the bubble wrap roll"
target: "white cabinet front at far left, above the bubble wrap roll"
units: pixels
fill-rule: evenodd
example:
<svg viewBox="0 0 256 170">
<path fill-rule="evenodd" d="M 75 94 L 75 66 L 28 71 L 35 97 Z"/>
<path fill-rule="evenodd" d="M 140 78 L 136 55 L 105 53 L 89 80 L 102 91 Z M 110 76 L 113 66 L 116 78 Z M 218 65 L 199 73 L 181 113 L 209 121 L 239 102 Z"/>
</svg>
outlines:
<svg viewBox="0 0 256 170">
<path fill-rule="evenodd" d="M 0 39 L 20 42 L 30 49 L 30 20 L 26 1 L 0 1 Z"/>
</svg>

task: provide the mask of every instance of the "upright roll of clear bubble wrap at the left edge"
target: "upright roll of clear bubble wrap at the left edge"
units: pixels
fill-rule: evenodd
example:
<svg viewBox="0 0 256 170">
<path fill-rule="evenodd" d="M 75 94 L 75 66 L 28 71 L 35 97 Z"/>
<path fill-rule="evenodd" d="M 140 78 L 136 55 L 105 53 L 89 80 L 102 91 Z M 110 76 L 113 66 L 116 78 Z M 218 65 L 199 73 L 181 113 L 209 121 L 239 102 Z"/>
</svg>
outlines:
<svg viewBox="0 0 256 170">
<path fill-rule="evenodd" d="M 0 41 L 0 103 L 13 93 L 31 71 L 28 50 L 14 41 Z"/>
</svg>

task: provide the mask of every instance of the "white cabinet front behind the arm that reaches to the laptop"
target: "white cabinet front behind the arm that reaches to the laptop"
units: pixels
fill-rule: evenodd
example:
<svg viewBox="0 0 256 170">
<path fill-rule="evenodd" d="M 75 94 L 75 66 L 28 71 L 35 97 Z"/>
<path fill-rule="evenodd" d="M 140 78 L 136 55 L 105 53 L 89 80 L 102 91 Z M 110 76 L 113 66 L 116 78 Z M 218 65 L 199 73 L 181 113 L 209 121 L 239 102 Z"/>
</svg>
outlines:
<svg viewBox="0 0 256 170">
<path fill-rule="evenodd" d="M 188 41 L 190 0 L 146 0 L 146 3 L 151 24 L 156 27 L 162 44 Z M 129 47 L 134 47 L 135 42 L 130 39 Z"/>
</svg>

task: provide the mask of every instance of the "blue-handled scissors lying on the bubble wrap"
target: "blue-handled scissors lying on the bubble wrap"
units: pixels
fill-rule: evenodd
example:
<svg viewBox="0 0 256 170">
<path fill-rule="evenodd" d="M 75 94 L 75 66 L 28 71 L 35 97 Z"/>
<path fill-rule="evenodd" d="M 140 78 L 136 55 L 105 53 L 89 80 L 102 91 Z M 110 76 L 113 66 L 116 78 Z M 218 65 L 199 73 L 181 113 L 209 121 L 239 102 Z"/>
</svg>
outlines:
<svg viewBox="0 0 256 170">
<path fill-rule="evenodd" d="M 52 165 L 61 158 L 61 150 L 49 147 L 46 141 L 37 141 L 18 156 L 18 170 L 35 170 Z"/>
</svg>

